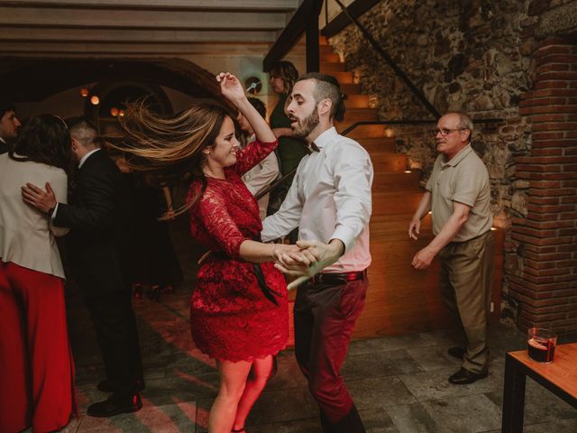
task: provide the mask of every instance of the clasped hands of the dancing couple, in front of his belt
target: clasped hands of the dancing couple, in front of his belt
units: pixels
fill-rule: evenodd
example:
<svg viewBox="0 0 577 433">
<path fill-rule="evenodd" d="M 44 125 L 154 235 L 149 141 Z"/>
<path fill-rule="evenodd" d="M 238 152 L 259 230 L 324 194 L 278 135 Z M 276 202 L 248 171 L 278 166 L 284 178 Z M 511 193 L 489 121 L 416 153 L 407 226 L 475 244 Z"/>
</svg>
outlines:
<svg viewBox="0 0 577 433">
<path fill-rule="evenodd" d="M 297 277 L 288 288 L 292 290 L 312 278 L 326 266 L 336 262 L 343 253 L 340 241 L 323 244 L 318 241 L 298 241 L 294 245 L 278 244 L 274 249 L 275 268 Z"/>
</svg>

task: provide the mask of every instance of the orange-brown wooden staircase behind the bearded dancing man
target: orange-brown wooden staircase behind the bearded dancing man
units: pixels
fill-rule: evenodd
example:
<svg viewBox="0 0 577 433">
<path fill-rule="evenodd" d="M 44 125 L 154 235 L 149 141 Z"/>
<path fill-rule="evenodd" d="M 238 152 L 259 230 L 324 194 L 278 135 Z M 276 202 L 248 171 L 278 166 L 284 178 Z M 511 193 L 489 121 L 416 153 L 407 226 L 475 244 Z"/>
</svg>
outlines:
<svg viewBox="0 0 577 433">
<path fill-rule="evenodd" d="M 338 78 L 348 94 L 345 120 L 336 124 L 343 131 L 360 120 L 377 120 L 377 110 L 369 107 L 369 97 L 361 94 L 353 74 L 344 70 L 339 56 L 321 38 L 321 72 Z M 426 271 L 416 271 L 411 260 L 433 238 L 431 218 L 425 217 L 417 241 L 408 238 L 408 224 L 417 209 L 423 190 L 420 173 L 407 170 L 407 155 L 396 153 L 394 138 L 385 137 L 384 125 L 359 126 L 347 136 L 371 154 L 374 167 L 372 186 L 370 286 L 354 337 L 400 335 L 450 326 L 438 290 L 439 263 L 435 259 Z M 502 234 L 498 233 L 496 270 L 501 269 Z M 495 275 L 493 319 L 499 320 L 500 272 Z"/>
</svg>

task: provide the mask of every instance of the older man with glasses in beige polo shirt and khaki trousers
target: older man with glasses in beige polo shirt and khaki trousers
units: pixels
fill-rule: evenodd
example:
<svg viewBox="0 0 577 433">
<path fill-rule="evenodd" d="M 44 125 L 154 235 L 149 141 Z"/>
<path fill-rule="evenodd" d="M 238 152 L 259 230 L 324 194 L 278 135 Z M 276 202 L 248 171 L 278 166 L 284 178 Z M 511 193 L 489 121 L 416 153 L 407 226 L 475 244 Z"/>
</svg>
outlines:
<svg viewBox="0 0 577 433">
<path fill-rule="evenodd" d="M 461 385 L 483 379 L 488 373 L 487 318 L 495 251 L 490 230 L 490 181 L 485 164 L 472 150 L 472 121 L 467 115 L 444 115 L 434 134 L 441 154 L 408 226 L 408 235 L 417 239 L 421 219 L 432 210 L 435 238 L 415 254 L 411 265 L 423 270 L 436 254 L 441 259 L 441 292 L 462 343 L 448 351 L 463 359 L 462 368 L 449 377 L 449 382 Z"/>
</svg>

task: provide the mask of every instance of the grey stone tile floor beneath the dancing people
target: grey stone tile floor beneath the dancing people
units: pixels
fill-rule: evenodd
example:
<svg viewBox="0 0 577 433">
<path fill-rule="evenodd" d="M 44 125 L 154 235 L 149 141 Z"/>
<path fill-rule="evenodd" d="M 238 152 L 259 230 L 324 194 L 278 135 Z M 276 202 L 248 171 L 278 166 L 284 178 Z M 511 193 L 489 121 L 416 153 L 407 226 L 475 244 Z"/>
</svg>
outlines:
<svg viewBox="0 0 577 433">
<path fill-rule="evenodd" d="M 69 299 L 70 334 L 77 364 L 78 419 L 68 432 L 206 431 L 206 417 L 217 389 L 214 363 L 192 345 L 188 330 L 188 291 L 181 287 L 160 303 L 135 303 L 145 364 L 146 391 L 141 411 L 112 419 L 87 417 L 87 404 L 105 399 L 96 382 L 103 369 L 92 326 L 78 296 Z M 377 432 L 500 431 L 504 354 L 523 348 L 515 329 L 490 332 L 492 361 L 487 379 L 454 386 L 447 377 L 459 368 L 446 355 L 453 345 L 446 331 L 355 341 L 343 374 L 367 430 Z M 577 410 L 535 382 L 527 382 L 527 433 L 577 432 Z M 279 356 L 270 381 L 247 423 L 248 433 L 320 432 L 316 404 L 307 392 L 293 353 Z"/>
</svg>

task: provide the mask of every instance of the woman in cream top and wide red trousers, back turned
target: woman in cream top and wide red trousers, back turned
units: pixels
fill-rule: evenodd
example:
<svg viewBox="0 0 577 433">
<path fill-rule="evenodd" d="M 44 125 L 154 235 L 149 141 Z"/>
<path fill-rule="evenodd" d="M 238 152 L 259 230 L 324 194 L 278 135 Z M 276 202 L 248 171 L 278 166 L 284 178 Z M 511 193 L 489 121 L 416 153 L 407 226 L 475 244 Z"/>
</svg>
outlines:
<svg viewBox="0 0 577 433">
<path fill-rule="evenodd" d="M 23 126 L 14 151 L 0 155 L 0 431 L 66 426 L 74 367 L 64 306 L 64 271 L 55 235 L 66 229 L 23 202 L 26 182 L 50 183 L 66 203 L 70 136 L 54 115 Z M 50 188 L 50 187 L 48 187 Z"/>
</svg>

